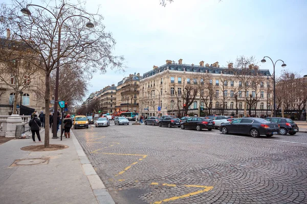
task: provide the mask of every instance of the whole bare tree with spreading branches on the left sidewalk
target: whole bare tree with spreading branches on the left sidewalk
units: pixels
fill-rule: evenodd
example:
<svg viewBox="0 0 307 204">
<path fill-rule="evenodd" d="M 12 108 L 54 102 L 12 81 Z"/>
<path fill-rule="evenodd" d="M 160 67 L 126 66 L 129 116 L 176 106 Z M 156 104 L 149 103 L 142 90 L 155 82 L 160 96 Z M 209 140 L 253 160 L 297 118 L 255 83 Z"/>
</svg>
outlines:
<svg viewBox="0 0 307 204">
<path fill-rule="evenodd" d="M 50 104 L 50 74 L 57 67 L 78 63 L 84 72 L 105 72 L 107 67 L 121 67 L 123 58 L 112 54 L 115 40 L 111 33 L 105 32 L 100 14 L 86 12 L 81 3 L 74 5 L 67 0 L 54 4 L 42 2 L 40 6 L 26 5 L 25 1 L 15 0 L 2 5 L 0 33 L 10 28 L 20 42 L 34 50 L 34 57 L 24 58 L 28 57 L 32 66 L 45 72 L 46 108 Z M 21 9 L 30 15 L 20 15 Z M 49 117 L 46 117 L 46 123 L 49 123 Z M 45 147 L 49 147 L 48 125 Z"/>
</svg>

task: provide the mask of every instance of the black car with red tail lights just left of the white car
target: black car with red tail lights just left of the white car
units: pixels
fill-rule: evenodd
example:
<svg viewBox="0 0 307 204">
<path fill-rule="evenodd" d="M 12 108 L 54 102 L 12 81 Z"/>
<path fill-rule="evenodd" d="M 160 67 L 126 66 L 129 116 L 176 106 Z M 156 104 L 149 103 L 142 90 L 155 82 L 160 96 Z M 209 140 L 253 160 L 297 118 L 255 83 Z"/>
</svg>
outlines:
<svg viewBox="0 0 307 204">
<path fill-rule="evenodd" d="M 214 128 L 214 121 L 204 117 L 190 117 L 186 121 L 181 122 L 181 129 L 196 129 L 201 131 L 202 129 L 208 129 L 211 131 Z"/>
</svg>

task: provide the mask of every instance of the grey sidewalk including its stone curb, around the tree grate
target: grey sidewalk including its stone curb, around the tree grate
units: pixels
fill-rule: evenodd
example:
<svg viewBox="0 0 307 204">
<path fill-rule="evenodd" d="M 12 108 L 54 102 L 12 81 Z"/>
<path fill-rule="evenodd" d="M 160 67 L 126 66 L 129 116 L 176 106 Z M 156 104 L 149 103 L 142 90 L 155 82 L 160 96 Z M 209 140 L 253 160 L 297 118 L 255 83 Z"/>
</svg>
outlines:
<svg viewBox="0 0 307 204">
<path fill-rule="evenodd" d="M 42 141 L 44 134 L 45 131 L 40 133 Z M 60 141 L 51 137 L 50 132 L 50 144 L 69 148 L 20 150 L 24 146 L 43 144 L 33 143 L 32 139 L 15 139 L 0 145 L 0 202 L 115 204 L 72 131 L 70 139 L 63 137 Z M 49 163 L 10 167 L 16 159 L 29 158 L 49 158 Z"/>
</svg>

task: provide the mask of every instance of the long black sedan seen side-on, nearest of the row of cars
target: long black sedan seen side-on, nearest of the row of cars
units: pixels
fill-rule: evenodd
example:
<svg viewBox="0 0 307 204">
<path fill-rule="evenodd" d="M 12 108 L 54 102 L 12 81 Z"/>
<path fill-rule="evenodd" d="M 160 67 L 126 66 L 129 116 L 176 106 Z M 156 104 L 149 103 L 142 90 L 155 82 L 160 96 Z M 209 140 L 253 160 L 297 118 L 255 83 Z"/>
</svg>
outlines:
<svg viewBox="0 0 307 204">
<path fill-rule="evenodd" d="M 260 135 L 271 137 L 278 134 L 279 125 L 262 118 L 238 118 L 229 123 L 221 124 L 220 131 L 223 134 L 238 133 L 252 137 L 259 137 Z"/>
</svg>

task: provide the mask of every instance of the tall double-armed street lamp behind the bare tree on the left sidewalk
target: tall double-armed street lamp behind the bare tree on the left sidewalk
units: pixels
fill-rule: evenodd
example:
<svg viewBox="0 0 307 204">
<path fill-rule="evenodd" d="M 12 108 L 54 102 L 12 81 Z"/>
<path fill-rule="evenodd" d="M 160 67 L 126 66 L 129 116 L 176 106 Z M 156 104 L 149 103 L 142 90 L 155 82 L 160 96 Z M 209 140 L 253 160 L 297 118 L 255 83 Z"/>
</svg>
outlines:
<svg viewBox="0 0 307 204">
<path fill-rule="evenodd" d="M 51 13 L 51 15 L 56 19 L 57 21 L 57 17 L 51 12 L 49 11 L 47 8 L 39 6 L 39 5 L 34 5 L 34 4 L 28 4 L 26 8 L 21 9 L 21 13 L 23 13 L 24 15 L 31 15 L 30 10 L 28 9 L 29 6 L 34 6 L 34 7 L 39 7 L 42 9 L 45 9 L 46 11 L 48 11 L 49 13 Z M 71 18 L 71 17 L 83 17 L 86 18 L 87 20 L 89 20 L 89 22 L 86 23 L 86 27 L 87 28 L 94 28 L 94 24 L 90 21 L 90 18 L 87 18 L 85 16 L 82 15 L 71 15 L 68 16 L 67 18 L 65 18 L 58 27 L 58 44 L 57 44 L 57 62 L 56 62 L 56 79 L 55 79 L 55 94 L 54 94 L 54 115 L 53 115 L 53 135 L 52 135 L 52 139 L 56 139 L 57 137 L 57 117 L 58 117 L 58 90 L 59 90 L 59 68 L 60 68 L 60 45 L 61 45 L 61 28 L 63 23 L 65 22 L 65 20 Z M 57 22 L 58 23 L 58 22 Z"/>
</svg>

